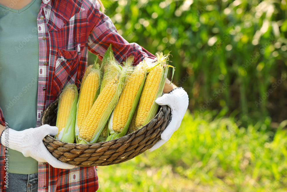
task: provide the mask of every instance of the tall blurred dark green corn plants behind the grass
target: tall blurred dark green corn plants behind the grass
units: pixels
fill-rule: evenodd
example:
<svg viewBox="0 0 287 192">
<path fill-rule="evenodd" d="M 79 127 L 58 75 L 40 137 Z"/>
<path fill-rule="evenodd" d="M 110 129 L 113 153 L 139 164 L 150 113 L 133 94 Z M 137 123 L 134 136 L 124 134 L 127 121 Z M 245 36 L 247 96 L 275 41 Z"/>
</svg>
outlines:
<svg viewBox="0 0 287 192">
<path fill-rule="evenodd" d="M 223 109 L 245 125 L 286 119 L 286 0 L 103 3 L 127 41 L 152 54 L 171 51 L 174 83 L 187 91 L 194 113 Z"/>
</svg>

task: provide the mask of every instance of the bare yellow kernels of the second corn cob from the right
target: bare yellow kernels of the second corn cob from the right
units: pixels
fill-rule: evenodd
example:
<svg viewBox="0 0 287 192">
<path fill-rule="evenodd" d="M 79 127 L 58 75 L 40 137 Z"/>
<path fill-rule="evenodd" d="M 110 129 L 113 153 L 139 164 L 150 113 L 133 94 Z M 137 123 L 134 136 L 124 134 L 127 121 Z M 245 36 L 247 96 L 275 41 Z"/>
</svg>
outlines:
<svg viewBox="0 0 287 192">
<path fill-rule="evenodd" d="M 119 98 L 117 106 L 113 113 L 113 130 L 122 132 L 129 118 L 129 113 L 132 109 L 133 102 L 144 80 L 145 72 L 142 67 L 138 67 L 131 73 L 129 80 Z"/>
</svg>

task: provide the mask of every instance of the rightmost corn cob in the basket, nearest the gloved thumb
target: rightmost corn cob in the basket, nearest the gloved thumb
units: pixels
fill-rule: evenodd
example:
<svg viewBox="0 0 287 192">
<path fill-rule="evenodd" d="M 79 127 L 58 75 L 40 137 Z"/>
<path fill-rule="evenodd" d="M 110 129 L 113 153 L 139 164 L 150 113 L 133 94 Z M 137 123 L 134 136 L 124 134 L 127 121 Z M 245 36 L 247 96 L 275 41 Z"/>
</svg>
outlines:
<svg viewBox="0 0 287 192">
<path fill-rule="evenodd" d="M 135 118 L 136 129 L 141 128 L 154 118 L 158 110 L 158 104 L 156 104 L 155 100 L 162 95 L 170 65 L 166 64 L 168 55 L 161 53 L 160 55 L 157 54 L 157 56 L 158 60 L 146 77 L 146 82 L 139 99 L 139 107 Z"/>
</svg>

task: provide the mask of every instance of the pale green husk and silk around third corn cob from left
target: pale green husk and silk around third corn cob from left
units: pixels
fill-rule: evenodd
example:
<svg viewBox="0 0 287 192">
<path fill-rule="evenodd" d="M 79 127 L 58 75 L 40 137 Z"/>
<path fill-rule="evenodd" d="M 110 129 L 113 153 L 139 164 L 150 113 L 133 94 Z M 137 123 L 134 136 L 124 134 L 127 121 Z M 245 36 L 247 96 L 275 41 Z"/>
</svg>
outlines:
<svg viewBox="0 0 287 192">
<path fill-rule="evenodd" d="M 119 96 L 121 94 L 125 78 L 127 74 L 130 72 L 131 72 L 130 66 L 121 67 L 116 61 L 110 61 L 109 64 L 107 65 L 107 71 L 105 73 L 105 77 L 102 81 L 102 84 L 104 83 L 104 85 L 106 85 L 107 82 L 110 82 L 116 76 L 118 78 L 119 83 L 117 85 L 117 90 L 115 92 L 115 95 L 111 99 L 111 102 L 108 104 L 106 110 L 104 111 L 102 117 L 100 118 L 98 127 L 96 128 L 92 139 L 90 141 L 85 140 L 87 143 L 95 143 L 98 140 L 102 130 L 104 129 L 104 126 L 106 125 L 108 121 L 108 118 L 110 117 L 113 109 L 115 108 L 117 101 L 119 100 Z M 80 140 L 84 140 L 84 139 L 78 137 L 79 143 L 80 143 Z"/>
</svg>

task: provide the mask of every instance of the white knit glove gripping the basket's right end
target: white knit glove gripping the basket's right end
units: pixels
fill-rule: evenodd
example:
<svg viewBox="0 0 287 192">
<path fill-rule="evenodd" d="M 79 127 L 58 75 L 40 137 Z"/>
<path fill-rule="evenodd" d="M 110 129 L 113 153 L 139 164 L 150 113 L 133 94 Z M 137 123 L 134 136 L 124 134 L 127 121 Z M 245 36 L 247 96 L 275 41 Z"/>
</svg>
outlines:
<svg viewBox="0 0 287 192">
<path fill-rule="evenodd" d="M 149 149 L 150 152 L 162 146 L 179 128 L 188 107 L 188 96 L 185 90 L 183 90 L 182 87 L 179 87 L 157 98 L 156 103 L 159 105 L 168 105 L 170 107 L 171 121 L 160 135 L 161 140 L 159 140 L 152 148 Z"/>
</svg>

